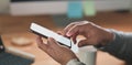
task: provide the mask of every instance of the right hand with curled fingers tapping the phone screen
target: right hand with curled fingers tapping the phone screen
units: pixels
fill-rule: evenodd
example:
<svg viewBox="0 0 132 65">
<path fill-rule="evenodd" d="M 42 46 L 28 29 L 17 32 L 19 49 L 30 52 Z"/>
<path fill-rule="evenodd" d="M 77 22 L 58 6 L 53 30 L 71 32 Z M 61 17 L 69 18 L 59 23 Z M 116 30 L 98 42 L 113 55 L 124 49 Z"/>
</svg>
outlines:
<svg viewBox="0 0 132 65">
<path fill-rule="evenodd" d="M 72 37 L 75 43 L 78 35 L 85 36 L 86 40 L 81 40 L 78 46 L 105 45 L 113 40 L 113 34 L 110 31 L 88 21 L 70 23 L 63 32 L 65 36 Z"/>
</svg>

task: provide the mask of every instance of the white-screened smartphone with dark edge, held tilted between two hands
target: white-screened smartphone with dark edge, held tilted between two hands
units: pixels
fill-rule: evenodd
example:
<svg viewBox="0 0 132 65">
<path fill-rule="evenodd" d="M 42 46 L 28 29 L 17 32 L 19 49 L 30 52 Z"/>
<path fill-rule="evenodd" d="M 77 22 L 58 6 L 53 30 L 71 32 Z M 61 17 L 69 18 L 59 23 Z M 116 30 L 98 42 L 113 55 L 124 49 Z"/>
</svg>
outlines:
<svg viewBox="0 0 132 65">
<path fill-rule="evenodd" d="M 69 39 L 67 39 L 63 35 L 59 35 L 59 34 L 57 34 L 44 26 L 41 26 L 36 23 L 31 23 L 30 30 L 35 34 L 42 35 L 44 37 L 53 37 L 61 44 L 72 47 L 72 41 Z"/>
</svg>

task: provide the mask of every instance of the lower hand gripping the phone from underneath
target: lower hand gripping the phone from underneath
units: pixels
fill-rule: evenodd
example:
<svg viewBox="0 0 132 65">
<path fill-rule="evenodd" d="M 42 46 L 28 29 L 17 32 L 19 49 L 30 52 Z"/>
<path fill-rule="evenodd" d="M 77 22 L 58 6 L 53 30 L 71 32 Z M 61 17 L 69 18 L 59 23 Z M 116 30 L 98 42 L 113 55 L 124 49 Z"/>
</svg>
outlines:
<svg viewBox="0 0 132 65">
<path fill-rule="evenodd" d="M 46 52 L 52 58 L 62 65 L 66 65 L 66 63 L 73 58 L 77 58 L 77 56 L 66 46 L 59 45 L 54 39 L 48 37 L 47 43 L 42 41 L 42 37 L 37 37 L 37 45 L 41 50 Z M 78 59 L 78 58 L 77 58 Z"/>
</svg>

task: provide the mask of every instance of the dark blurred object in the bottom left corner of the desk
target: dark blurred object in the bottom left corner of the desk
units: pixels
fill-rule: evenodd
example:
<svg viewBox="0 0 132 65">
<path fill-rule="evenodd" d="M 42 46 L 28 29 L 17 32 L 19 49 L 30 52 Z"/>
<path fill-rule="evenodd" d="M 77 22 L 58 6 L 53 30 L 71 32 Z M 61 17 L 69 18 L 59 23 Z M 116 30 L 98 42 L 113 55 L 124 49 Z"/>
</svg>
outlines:
<svg viewBox="0 0 132 65">
<path fill-rule="evenodd" d="M 0 65 L 31 65 L 34 61 L 6 52 L 0 36 Z"/>
</svg>

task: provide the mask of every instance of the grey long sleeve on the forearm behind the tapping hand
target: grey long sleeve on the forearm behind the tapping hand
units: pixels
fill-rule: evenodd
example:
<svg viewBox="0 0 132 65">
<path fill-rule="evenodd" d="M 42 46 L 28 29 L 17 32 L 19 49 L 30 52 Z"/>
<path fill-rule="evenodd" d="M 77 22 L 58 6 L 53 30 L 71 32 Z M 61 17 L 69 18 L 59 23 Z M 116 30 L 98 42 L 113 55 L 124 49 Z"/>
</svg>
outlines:
<svg viewBox="0 0 132 65">
<path fill-rule="evenodd" d="M 132 59 L 132 33 L 112 31 L 116 39 L 107 43 L 102 51 L 114 55 L 118 58 L 130 62 Z"/>
</svg>

